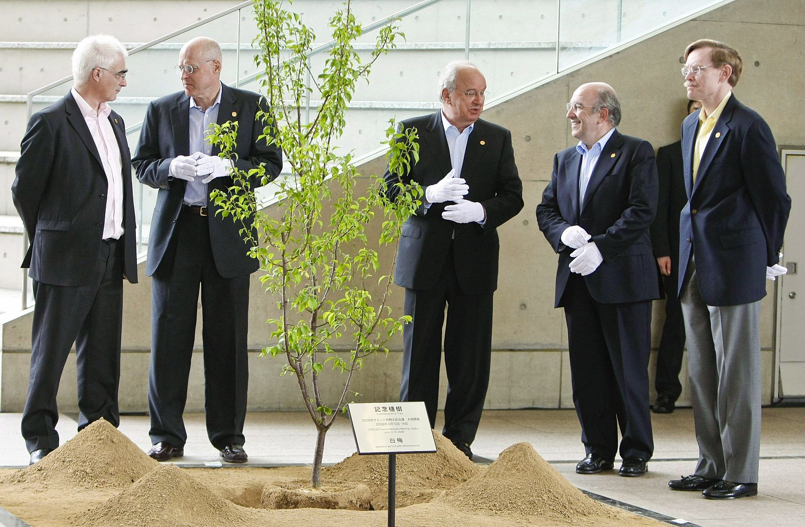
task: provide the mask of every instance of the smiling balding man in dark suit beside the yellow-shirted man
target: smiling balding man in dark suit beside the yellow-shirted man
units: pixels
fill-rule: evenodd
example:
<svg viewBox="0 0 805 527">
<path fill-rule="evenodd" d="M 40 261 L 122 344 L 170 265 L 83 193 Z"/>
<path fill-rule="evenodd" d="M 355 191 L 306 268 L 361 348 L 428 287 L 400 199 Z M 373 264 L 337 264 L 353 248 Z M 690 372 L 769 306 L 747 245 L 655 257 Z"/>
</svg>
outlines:
<svg viewBox="0 0 805 527">
<path fill-rule="evenodd" d="M 658 298 L 649 227 L 657 208 L 654 149 L 620 134 L 608 84 L 582 84 L 568 103 L 579 144 L 554 158 L 537 221 L 559 253 L 555 307 L 564 307 L 573 403 L 586 457 L 580 474 L 614 467 L 642 476 L 654 451 L 649 412 L 651 301 Z"/>
</svg>

